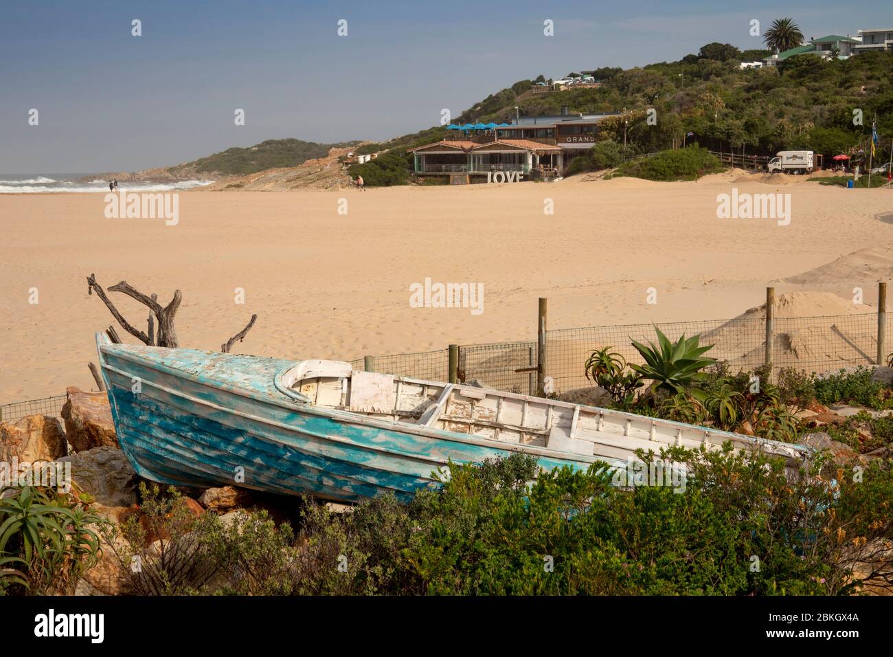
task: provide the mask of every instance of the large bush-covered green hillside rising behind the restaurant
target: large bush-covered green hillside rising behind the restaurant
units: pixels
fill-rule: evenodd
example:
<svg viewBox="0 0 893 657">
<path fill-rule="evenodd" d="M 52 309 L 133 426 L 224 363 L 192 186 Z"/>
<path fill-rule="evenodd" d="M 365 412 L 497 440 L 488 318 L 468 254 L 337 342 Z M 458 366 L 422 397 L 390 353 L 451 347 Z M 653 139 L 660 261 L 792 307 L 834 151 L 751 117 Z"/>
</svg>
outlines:
<svg viewBox="0 0 893 657">
<path fill-rule="evenodd" d="M 583 71 L 600 81 L 597 87 L 535 93 L 535 83 L 545 81 L 540 75 L 484 98 L 454 121 L 511 122 L 516 105 L 522 116 L 560 114 L 566 105 L 571 114 L 621 113 L 599 123 L 599 138 L 621 149 L 625 116 L 627 146 L 619 153 L 621 160 L 697 143 L 710 150 L 762 156 L 810 149 L 821 153 L 827 165 L 839 153 L 858 157 L 859 148 L 867 151 L 876 116 L 880 149 L 889 154 L 893 54 L 864 53 L 846 60 L 806 54 L 762 69 L 739 66 L 769 54 L 712 43 L 678 62 Z M 655 110 L 656 122 L 647 121 L 649 109 Z M 860 114 L 861 122 L 855 121 Z M 445 128 L 436 127 L 371 144 L 365 147 L 368 152 L 385 150 L 389 157 L 355 165 L 351 174 L 362 174 L 371 185 L 405 182 L 412 173 L 406 149 L 445 134 Z M 616 147 L 608 147 L 589 159 L 613 163 L 615 154 Z M 405 162 L 405 171 L 395 170 L 398 160 Z M 385 166 L 388 171 L 382 171 Z M 598 163 L 578 165 L 579 170 L 592 168 L 599 168 Z"/>
</svg>

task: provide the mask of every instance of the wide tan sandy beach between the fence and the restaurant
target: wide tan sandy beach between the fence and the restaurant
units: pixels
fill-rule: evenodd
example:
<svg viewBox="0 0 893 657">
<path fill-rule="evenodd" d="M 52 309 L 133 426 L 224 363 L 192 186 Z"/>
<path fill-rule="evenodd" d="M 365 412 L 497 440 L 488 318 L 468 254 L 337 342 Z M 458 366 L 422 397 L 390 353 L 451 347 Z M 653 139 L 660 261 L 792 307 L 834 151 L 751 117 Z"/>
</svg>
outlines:
<svg viewBox="0 0 893 657">
<path fill-rule="evenodd" d="M 789 225 L 718 219 L 717 195 L 733 187 L 789 193 Z M 544 214 L 547 198 L 554 215 Z M 102 194 L 0 195 L 0 403 L 95 388 L 93 333 L 113 318 L 88 296 L 91 273 L 105 288 L 126 280 L 157 292 L 163 304 L 182 290 L 184 347 L 219 350 L 257 313 L 234 352 L 350 359 L 530 339 L 538 297 L 549 299 L 550 328 L 729 318 L 788 277 L 796 282 L 776 282 L 780 293 L 849 298 L 858 285 L 873 303 L 878 274 L 893 263 L 891 212 L 891 190 L 736 173 L 672 183 L 188 191 L 177 225 L 107 219 Z M 482 283 L 483 312 L 412 307 L 410 286 L 426 278 Z M 647 304 L 648 288 L 656 304 Z M 145 328 L 144 307 L 110 296 Z"/>
</svg>

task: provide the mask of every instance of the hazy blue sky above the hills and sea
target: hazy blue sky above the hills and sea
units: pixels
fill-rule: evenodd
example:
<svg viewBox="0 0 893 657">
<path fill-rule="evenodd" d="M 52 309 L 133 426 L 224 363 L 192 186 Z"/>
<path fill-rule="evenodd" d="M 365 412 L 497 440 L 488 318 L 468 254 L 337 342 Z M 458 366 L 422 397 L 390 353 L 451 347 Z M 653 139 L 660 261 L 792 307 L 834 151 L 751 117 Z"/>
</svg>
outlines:
<svg viewBox="0 0 893 657">
<path fill-rule="evenodd" d="M 855 34 L 893 27 L 893 3 L 0 0 L 0 172 L 132 171 L 285 137 L 387 139 L 540 73 L 672 61 L 711 41 L 760 47 L 749 21 L 783 16 L 806 38 Z"/>
</svg>

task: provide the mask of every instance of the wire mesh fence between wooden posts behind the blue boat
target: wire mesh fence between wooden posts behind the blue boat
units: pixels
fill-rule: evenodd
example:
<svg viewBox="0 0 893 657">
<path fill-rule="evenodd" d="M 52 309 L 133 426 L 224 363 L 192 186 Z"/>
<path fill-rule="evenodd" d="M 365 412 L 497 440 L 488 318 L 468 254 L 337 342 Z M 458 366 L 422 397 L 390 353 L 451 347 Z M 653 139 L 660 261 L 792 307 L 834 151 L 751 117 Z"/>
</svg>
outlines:
<svg viewBox="0 0 893 657">
<path fill-rule="evenodd" d="M 655 326 L 672 341 L 683 334 L 699 334 L 702 345 L 714 345 L 705 355 L 725 361 L 732 371 L 753 369 L 765 362 L 765 315 L 757 308 L 730 320 L 547 331 L 544 374 L 552 377 L 556 392 L 588 387 L 592 383 L 586 378 L 584 364 L 590 351 L 611 347 L 628 363 L 642 363 L 631 342 L 656 341 Z M 874 313 L 775 317 L 772 366 L 823 373 L 873 365 L 878 356 L 877 327 L 878 316 Z M 885 335 L 886 344 L 893 344 L 893 326 L 886 327 Z M 536 341 L 460 345 L 455 375 L 460 381 L 477 381 L 497 390 L 536 394 L 537 362 Z M 355 358 L 350 364 L 358 370 L 431 381 L 449 381 L 451 374 L 448 349 L 367 356 Z M 65 395 L 58 395 L 5 404 L 0 406 L 0 421 L 15 422 L 29 415 L 59 416 L 64 402 Z"/>
</svg>

